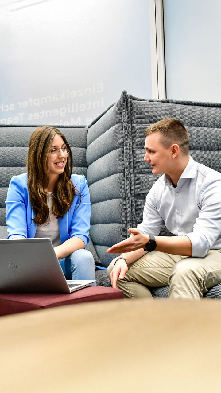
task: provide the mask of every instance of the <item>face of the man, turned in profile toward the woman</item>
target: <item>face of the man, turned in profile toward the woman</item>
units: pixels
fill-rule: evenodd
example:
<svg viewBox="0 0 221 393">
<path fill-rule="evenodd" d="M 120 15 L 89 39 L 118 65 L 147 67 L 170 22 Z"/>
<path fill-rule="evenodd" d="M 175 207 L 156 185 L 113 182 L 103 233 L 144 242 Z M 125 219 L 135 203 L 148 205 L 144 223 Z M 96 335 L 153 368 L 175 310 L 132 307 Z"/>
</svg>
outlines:
<svg viewBox="0 0 221 393">
<path fill-rule="evenodd" d="M 151 165 L 153 174 L 170 174 L 173 160 L 172 160 L 172 149 L 168 147 L 166 149 L 161 142 L 162 136 L 160 132 L 153 132 L 146 137 L 144 149 L 146 154 L 144 161 Z"/>
</svg>

